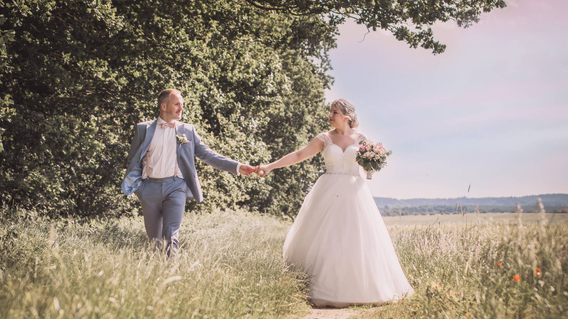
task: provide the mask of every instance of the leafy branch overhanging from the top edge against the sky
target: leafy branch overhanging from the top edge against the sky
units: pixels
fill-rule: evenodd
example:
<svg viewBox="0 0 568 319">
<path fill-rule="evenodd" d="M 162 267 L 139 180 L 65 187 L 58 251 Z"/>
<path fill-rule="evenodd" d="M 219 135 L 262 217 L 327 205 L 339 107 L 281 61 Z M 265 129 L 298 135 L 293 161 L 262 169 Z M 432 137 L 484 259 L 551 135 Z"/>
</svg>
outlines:
<svg viewBox="0 0 568 319">
<path fill-rule="evenodd" d="M 397 40 L 408 43 L 411 48 L 420 45 L 431 49 L 434 54 L 444 52 L 446 45 L 434 40 L 432 24 L 452 20 L 458 26 L 467 28 L 474 22 L 479 22 L 482 12 L 506 6 L 503 0 L 242 1 L 258 9 L 286 12 L 294 16 L 326 15 L 334 25 L 352 18 L 358 24 L 364 24 L 369 31 L 377 31 L 379 28 L 390 31 Z M 414 31 L 408 26 L 414 28 Z"/>
</svg>

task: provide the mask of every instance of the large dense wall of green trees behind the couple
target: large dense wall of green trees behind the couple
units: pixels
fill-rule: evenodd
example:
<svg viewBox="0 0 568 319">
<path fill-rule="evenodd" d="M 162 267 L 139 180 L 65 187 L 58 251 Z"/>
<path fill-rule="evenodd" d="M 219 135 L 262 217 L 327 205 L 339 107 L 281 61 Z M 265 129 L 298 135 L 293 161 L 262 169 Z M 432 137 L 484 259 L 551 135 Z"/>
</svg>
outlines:
<svg viewBox="0 0 568 319">
<path fill-rule="evenodd" d="M 266 163 L 307 144 L 327 127 L 327 53 L 352 10 L 307 3 L 0 3 L 2 200 L 56 214 L 136 213 L 119 185 L 133 128 L 157 117 L 166 87 L 185 97 L 182 120 L 237 161 Z M 369 12 L 360 18 L 377 18 Z M 294 216 L 322 168 L 316 156 L 247 179 L 198 161 L 199 207 Z"/>
</svg>

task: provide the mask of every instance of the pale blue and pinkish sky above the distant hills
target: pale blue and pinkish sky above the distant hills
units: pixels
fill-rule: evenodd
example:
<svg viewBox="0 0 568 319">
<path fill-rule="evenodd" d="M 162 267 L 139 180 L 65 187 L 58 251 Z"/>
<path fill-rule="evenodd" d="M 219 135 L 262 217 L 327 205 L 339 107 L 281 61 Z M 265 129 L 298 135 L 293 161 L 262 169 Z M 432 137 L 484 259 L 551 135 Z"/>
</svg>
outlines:
<svg viewBox="0 0 568 319">
<path fill-rule="evenodd" d="M 373 196 L 568 193 L 568 1 L 506 3 L 469 28 L 435 24 L 436 56 L 340 26 L 325 98 L 352 102 L 358 130 L 393 152 Z"/>
</svg>

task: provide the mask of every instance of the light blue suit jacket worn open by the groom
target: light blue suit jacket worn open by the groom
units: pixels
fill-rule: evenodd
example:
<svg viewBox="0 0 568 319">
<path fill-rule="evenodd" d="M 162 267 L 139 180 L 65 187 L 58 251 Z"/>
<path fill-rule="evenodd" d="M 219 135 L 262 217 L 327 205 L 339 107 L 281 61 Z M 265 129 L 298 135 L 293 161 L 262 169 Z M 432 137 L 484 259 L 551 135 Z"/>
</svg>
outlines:
<svg viewBox="0 0 568 319">
<path fill-rule="evenodd" d="M 142 159 L 148 153 L 150 142 L 152 137 L 154 137 L 154 132 L 156 132 L 157 123 L 158 121 L 155 119 L 136 125 L 136 131 L 132 138 L 126 162 L 126 175 L 122 181 L 122 192 L 126 195 L 135 192 L 142 184 Z M 181 144 L 181 146 L 176 144 L 179 171 L 181 171 L 187 186 L 186 192 L 188 196 L 186 200 L 195 199 L 198 203 L 201 203 L 203 202 L 203 193 L 197 177 L 197 171 L 195 170 L 195 157 L 216 169 L 235 174 L 237 173 L 239 162 L 215 153 L 209 146 L 203 144 L 192 124 L 176 121 L 176 135 L 177 133 L 185 134 L 187 140 L 189 140 L 187 143 Z"/>
</svg>

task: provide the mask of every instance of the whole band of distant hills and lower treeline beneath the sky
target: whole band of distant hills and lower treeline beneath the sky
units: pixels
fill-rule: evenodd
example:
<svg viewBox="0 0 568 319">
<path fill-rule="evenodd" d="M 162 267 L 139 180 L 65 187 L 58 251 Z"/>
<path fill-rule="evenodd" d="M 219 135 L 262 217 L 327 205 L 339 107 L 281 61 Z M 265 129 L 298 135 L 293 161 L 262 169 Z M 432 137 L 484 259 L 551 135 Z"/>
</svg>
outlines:
<svg viewBox="0 0 568 319">
<path fill-rule="evenodd" d="M 447 199 L 394 199 L 375 197 L 383 216 L 452 214 L 456 212 L 496 213 L 516 212 L 518 203 L 524 212 L 538 212 L 537 199 L 541 198 L 546 212 L 568 213 L 568 194 L 543 194 L 500 198 L 447 198 Z"/>
</svg>

